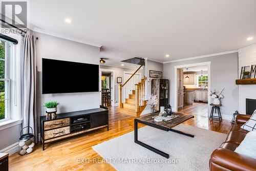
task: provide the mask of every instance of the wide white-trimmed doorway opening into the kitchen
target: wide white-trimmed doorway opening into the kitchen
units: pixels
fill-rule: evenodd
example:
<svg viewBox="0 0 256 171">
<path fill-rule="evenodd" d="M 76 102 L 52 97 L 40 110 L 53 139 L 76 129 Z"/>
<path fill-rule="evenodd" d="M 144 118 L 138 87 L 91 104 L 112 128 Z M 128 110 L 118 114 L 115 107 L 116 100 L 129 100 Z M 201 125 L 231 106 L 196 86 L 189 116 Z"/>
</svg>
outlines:
<svg viewBox="0 0 256 171">
<path fill-rule="evenodd" d="M 210 62 L 175 66 L 174 111 L 208 117 Z"/>
</svg>

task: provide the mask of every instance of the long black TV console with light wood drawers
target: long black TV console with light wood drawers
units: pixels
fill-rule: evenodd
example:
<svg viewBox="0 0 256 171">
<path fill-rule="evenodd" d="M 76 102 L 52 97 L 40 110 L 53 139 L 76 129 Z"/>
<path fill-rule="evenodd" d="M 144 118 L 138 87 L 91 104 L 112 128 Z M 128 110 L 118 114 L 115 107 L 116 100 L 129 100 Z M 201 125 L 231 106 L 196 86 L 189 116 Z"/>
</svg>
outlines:
<svg viewBox="0 0 256 171">
<path fill-rule="evenodd" d="M 57 114 L 55 119 L 41 116 L 42 149 L 45 150 L 46 143 L 86 134 L 104 127 L 109 131 L 109 111 L 102 108 L 61 113 Z"/>
</svg>

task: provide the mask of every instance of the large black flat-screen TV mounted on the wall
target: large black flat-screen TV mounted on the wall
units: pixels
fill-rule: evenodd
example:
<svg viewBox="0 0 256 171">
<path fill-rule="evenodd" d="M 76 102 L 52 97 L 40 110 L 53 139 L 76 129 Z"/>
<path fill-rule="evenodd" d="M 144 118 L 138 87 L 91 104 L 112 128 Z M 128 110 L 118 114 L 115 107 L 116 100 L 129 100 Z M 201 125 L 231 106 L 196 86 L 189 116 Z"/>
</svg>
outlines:
<svg viewBox="0 0 256 171">
<path fill-rule="evenodd" d="M 42 58 L 42 94 L 98 91 L 98 65 Z"/>
</svg>

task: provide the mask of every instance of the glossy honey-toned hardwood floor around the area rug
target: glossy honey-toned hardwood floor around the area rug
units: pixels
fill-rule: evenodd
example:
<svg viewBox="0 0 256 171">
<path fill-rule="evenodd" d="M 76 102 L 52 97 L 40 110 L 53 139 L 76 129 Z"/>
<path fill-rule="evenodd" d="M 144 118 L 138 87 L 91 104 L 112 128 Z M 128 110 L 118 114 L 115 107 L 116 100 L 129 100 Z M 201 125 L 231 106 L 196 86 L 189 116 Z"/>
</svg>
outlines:
<svg viewBox="0 0 256 171">
<path fill-rule="evenodd" d="M 184 114 L 195 115 L 194 119 L 184 122 L 185 124 L 220 133 L 229 132 L 231 125 L 227 120 L 209 121 L 208 117 L 200 116 L 204 115 L 204 112 L 197 110 L 196 107 L 195 103 L 180 111 Z M 27 156 L 19 156 L 17 153 L 10 156 L 9 170 L 115 170 L 110 164 L 95 162 L 95 160 L 102 161 L 102 157 L 93 150 L 92 146 L 133 131 L 134 118 L 119 113 L 117 107 L 111 107 L 109 131 L 102 129 L 84 136 L 63 140 L 46 146 L 45 151 L 42 151 L 41 145 L 38 144 L 34 152 Z M 139 127 L 142 126 L 144 125 L 139 124 Z"/>
</svg>

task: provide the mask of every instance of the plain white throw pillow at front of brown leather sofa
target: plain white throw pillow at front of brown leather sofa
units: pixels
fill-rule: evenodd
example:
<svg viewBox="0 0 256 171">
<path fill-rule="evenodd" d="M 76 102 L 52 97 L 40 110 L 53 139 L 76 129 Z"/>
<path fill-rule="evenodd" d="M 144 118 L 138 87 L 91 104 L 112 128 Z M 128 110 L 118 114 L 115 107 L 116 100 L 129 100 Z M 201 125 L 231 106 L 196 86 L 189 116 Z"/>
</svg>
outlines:
<svg viewBox="0 0 256 171">
<path fill-rule="evenodd" d="M 247 133 L 234 152 L 256 159 L 256 131 Z"/>
</svg>

